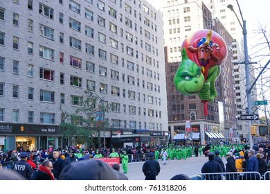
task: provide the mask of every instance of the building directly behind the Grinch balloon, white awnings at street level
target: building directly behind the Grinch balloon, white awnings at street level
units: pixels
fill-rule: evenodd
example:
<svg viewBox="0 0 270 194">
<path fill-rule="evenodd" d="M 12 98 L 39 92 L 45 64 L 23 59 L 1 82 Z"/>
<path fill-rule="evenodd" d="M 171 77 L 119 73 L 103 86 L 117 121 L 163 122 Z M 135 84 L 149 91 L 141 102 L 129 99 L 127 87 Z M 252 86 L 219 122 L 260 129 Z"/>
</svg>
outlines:
<svg viewBox="0 0 270 194">
<path fill-rule="evenodd" d="M 203 104 L 197 95 L 183 96 L 179 91 L 176 91 L 173 85 L 174 74 L 181 62 L 181 44 L 188 35 L 201 29 L 215 30 L 212 14 L 202 1 L 163 1 L 163 31 L 168 87 L 169 130 L 172 136 L 174 136 L 172 140 L 180 144 L 218 143 L 220 140 L 225 140 L 222 135 L 224 134 L 224 128 L 221 128 L 219 123 L 218 98 L 216 98 L 213 103 L 208 103 L 208 115 L 205 116 Z M 219 30 L 220 28 L 217 29 Z M 219 31 L 217 31 L 217 33 L 219 33 Z M 223 35 L 223 33 L 224 30 L 222 30 L 221 35 Z M 226 37 L 230 37 L 227 32 Z M 226 43 L 231 45 L 230 39 L 227 39 Z M 231 46 L 228 46 L 228 49 L 230 47 Z M 231 52 L 228 52 L 228 54 L 230 53 Z M 226 63 L 227 62 L 229 62 L 229 60 L 227 60 Z M 228 71 L 230 71 L 229 68 Z M 231 76 L 228 77 L 231 79 L 232 76 L 233 74 L 231 73 Z M 221 79 L 219 86 L 222 87 L 224 83 L 225 82 L 222 82 Z M 233 89 L 229 93 L 223 94 L 222 97 L 233 98 L 233 96 L 231 96 L 232 93 Z M 231 102 L 233 101 L 234 100 L 231 100 Z M 191 134 L 187 134 L 185 131 L 186 121 L 190 121 L 192 128 Z M 235 121 L 235 118 L 233 121 Z M 188 139 L 192 139 L 192 142 L 188 141 Z"/>
</svg>

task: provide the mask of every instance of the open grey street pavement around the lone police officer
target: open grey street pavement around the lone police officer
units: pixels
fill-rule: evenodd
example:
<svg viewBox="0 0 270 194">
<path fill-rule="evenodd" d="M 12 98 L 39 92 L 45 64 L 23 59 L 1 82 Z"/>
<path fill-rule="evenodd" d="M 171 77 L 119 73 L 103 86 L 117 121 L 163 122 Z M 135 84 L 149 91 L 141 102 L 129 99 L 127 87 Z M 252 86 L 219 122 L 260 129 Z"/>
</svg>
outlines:
<svg viewBox="0 0 270 194">
<path fill-rule="evenodd" d="M 226 159 L 222 158 L 224 165 L 226 164 Z M 208 157 L 204 155 L 201 157 L 190 157 L 186 160 L 168 160 L 166 165 L 163 165 L 163 161 L 159 159 L 159 164 L 161 166 L 161 172 L 156 177 L 157 180 L 170 180 L 174 175 L 186 174 L 189 177 L 201 173 L 201 167 L 204 163 L 208 161 Z M 132 162 L 127 164 L 127 174 L 125 174 L 129 180 L 144 180 L 142 167 L 144 161 Z M 123 173 L 122 165 L 120 164 L 120 172 Z"/>
</svg>

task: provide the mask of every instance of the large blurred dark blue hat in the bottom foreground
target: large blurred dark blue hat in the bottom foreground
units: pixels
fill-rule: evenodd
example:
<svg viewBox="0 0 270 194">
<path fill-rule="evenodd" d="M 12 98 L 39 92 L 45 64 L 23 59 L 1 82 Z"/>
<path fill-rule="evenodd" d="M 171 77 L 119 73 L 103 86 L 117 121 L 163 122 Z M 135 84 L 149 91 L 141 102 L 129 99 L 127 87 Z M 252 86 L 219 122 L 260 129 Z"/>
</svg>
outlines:
<svg viewBox="0 0 270 194">
<path fill-rule="evenodd" d="M 82 160 L 66 166 L 60 180 L 128 180 L 125 175 L 99 159 Z"/>
</svg>

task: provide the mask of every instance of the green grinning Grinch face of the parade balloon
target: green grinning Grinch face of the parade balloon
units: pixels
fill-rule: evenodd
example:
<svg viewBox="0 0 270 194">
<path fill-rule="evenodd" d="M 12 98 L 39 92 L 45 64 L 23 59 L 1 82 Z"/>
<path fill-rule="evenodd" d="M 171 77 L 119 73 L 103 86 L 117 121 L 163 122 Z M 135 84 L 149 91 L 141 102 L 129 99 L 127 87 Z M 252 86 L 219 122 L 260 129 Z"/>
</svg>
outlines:
<svg viewBox="0 0 270 194">
<path fill-rule="evenodd" d="M 186 54 L 186 51 L 182 51 L 182 56 L 183 54 Z M 201 67 L 183 56 L 177 73 L 174 75 L 174 86 L 181 94 L 188 96 L 197 94 L 204 86 L 204 75 L 201 73 Z"/>
</svg>

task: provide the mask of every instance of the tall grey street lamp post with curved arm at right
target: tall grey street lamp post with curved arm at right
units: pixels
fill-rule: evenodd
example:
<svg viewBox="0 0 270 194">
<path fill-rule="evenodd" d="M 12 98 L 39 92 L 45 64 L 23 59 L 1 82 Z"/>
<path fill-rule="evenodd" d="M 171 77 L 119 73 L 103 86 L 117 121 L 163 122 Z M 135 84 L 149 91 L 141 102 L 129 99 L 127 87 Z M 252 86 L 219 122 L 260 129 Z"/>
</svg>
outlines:
<svg viewBox="0 0 270 194">
<path fill-rule="evenodd" d="M 248 105 L 248 109 L 247 109 L 248 112 L 247 113 L 251 114 L 251 83 L 249 80 L 249 54 L 248 54 L 247 38 L 246 38 L 246 34 L 247 34 L 246 21 L 243 19 L 242 12 L 241 12 L 241 9 L 240 9 L 240 6 L 239 6 L 239 3 L 237 0 L 236 0 L 236 2 L 237 2 L 237 6 L 240 10 L 240 15 L 242 18 L 243 25 L 240 22 L 240 19 L 237 17 L 237 14 L 236 14 L 235 10 L 233 9 L 233 6 L 231 4 L 229 4 L 227 7 L 235 13 L 235 16 L 237 17 L 237 20 L 238 20 L 238 22 L 243 30 L 243 35 L 244 35 L 244 66 L 245 66 L 245 71 L 246 71 L 246 98 L 247 98 L 247 105 Z M 251 136 L 250 127 L 251 127 L 251 121 L 249 121 L 249 145 L 252 148 L 253 139 Z"/>
</svg>

